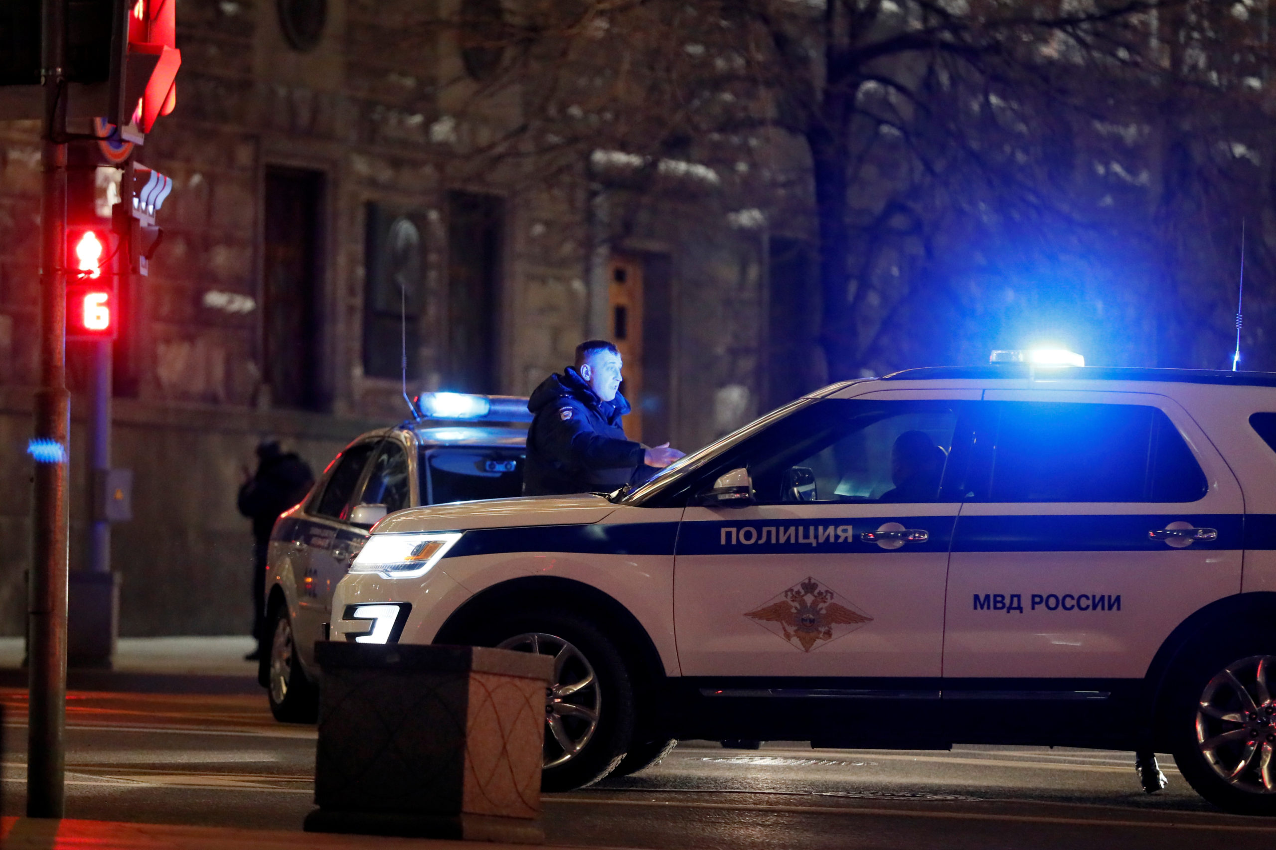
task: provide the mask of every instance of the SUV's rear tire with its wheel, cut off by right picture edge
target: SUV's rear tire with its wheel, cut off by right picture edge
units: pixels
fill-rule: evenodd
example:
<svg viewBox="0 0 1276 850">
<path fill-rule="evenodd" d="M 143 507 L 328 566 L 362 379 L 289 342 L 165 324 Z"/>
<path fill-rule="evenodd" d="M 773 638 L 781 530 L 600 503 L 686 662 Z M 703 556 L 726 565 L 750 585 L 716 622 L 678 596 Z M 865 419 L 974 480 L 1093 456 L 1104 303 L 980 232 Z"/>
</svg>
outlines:
<svg viewBox="0 0 1276 850">
<path fill-rule="evenodd" d="M 1215 805 L 1276 816 L 1276 634 L 1179 665 L 1164 719 L 1179 772 Z"/>
</svg>

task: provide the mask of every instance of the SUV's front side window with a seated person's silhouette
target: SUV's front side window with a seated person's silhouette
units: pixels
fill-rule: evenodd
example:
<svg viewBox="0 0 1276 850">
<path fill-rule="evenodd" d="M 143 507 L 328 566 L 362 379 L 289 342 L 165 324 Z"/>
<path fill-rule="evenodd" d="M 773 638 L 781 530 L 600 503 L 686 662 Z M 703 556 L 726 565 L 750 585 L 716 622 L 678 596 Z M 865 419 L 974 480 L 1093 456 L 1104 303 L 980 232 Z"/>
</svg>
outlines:
<svg viewBox="0 0 1276 850">
<path fill-rule="evenodd" d="M 828 401 L 748 454 L 759 504 L 938 502 L 957 424 L 948 402 Z"/>
</svg>

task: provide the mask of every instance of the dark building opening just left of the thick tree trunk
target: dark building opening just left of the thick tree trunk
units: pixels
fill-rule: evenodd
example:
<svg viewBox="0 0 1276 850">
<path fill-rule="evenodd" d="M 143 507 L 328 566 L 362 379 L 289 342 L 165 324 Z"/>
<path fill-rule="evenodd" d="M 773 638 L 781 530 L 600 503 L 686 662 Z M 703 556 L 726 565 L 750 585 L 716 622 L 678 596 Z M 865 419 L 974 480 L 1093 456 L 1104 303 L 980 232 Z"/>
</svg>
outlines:
<svg viewBox="0 0 1276 850">
<path fill-rule="evenodd" d="M 819 290 L 814 246 L 773 236 L 768 244 L 771 299 L 766 407 L 775 408 L 819 385 Z"/>
</svg>

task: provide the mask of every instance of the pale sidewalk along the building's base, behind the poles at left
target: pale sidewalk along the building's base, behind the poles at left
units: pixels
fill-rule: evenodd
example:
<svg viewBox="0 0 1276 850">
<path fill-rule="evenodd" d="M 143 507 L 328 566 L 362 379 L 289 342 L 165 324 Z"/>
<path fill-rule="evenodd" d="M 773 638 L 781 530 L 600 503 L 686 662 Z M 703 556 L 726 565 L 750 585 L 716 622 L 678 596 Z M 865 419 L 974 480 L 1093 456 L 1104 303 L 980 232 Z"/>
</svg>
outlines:
<svg viewBox="0 0 1276 850">
<path fill-rule="evenodd" d="M 111 670 L 70 669 L 74 690 L 140 693 L 260 693 L 250 637 L 120 638 Z M 20 637 L 0 638 L 0 687 L 27 684 Z"/>
</svg>

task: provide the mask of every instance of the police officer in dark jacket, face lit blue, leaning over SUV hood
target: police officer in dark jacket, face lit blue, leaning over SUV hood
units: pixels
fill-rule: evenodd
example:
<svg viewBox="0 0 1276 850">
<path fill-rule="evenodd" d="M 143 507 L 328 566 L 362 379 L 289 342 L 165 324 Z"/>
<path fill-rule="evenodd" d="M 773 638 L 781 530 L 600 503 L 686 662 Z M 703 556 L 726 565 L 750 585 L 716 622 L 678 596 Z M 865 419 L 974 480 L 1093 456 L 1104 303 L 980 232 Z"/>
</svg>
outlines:
<svg viewBox="0 0 1276 850">
<path fill-rule="evenodd" d="M 620 417 L 620 352 L 590 339 L 575 347 L 575 365 L 550 375 L 532 393 L 523 495 L 610 493 L 638 482 L 643 467 L 662 468 L 683 457 L 669 443 L 647 448 L 625 436 Z M 649 473 L 649 470 L 646 471 Z"/>
</svg>

